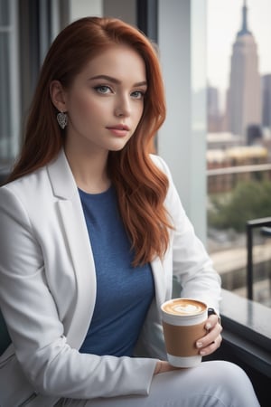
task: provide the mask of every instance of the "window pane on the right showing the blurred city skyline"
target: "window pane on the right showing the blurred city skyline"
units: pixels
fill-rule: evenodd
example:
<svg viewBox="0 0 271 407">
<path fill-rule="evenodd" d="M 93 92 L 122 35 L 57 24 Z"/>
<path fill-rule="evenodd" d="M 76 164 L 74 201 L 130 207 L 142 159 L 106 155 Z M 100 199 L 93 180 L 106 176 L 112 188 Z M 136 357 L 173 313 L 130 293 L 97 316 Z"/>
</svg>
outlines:
<svg viewBox="0 0 271 407">
<path fill-rule="evenodd" d="M 208 250 L 225 289 L 271 307 L 271 2 L 209 0 Z M 268 219 L 270 217 L 270 219 Z"/>
</svg>

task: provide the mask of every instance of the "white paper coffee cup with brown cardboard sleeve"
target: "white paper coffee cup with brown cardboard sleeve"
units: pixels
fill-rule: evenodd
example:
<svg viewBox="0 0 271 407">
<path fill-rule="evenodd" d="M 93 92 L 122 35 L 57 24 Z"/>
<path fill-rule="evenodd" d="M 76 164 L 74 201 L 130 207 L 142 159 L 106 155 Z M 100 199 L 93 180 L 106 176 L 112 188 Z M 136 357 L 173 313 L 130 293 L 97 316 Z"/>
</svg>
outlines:
<svg viewBox="0 0 271 407">
<path fill-rule="evenodd" d="M 201 363 L 196 342 L 206 335 L 207 305 L 190 298 L 173 298 L 161 306 L 168 362 L 177 367 Z"/>
</svg>

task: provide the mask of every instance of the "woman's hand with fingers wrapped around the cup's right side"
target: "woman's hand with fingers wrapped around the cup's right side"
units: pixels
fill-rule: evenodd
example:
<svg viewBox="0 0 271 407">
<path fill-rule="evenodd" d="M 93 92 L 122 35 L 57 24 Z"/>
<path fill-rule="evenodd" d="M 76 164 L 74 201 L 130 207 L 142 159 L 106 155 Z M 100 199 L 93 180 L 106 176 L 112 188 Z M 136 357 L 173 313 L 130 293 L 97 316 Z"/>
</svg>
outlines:
<svg viewBox="0 0 271 407">
<path fill-rule="evenodd" d="M 210 315 L 208 317 L 205 329 L 208 332 L 207 335 L 201 337 L 196 344 L 201 356 L 212 354 L 220 347 L 222 342 L 222 327 L 217 315 Z"/>
</svg>

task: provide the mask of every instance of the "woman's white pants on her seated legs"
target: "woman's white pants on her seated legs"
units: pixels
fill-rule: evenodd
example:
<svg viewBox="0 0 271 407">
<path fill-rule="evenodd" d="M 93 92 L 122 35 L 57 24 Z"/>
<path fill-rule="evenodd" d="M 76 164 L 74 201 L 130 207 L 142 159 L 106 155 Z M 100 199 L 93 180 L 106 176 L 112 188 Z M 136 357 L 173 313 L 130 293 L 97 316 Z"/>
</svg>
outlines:
<svg viewBox="0 0 271 407">
<path fill-rule="evenodd" d="M 236 364 L 201 363 L 154 375 L 148 396 L 122 396 L 91 400 L 62 399 L 69 407 L 259 407 L 247 374 Z"/>
</svg>

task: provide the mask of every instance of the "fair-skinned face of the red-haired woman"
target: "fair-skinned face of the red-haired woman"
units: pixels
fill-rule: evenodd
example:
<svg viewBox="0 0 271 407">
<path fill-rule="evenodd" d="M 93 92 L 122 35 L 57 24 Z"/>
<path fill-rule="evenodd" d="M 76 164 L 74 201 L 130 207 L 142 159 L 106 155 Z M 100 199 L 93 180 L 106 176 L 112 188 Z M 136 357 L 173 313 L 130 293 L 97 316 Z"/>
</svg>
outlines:
<svg viewBox="0 0 271 407">
<path fill-rule="evenodd" d="M 132 48 L 113 45 L 92 59 L 64 92 L 67 140 L 89 151 L 117 151 L 143 114 L 145 62 Z"/>
</svg>

